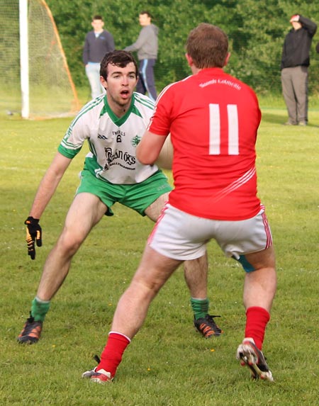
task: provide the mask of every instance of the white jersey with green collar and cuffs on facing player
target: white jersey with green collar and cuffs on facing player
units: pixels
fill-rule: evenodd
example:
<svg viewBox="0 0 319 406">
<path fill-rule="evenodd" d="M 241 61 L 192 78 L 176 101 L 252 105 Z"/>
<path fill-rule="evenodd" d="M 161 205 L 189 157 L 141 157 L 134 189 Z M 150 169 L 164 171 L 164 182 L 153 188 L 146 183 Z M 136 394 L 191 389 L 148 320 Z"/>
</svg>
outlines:
<svg viewBox="0 0 319 406">
<path fill-rule="evenodd" d="M 86 155 L 84 168 L 96 178 L 112 184 L 145 181 L 158 167 L 140 164 L 135 151 L 153 110 L 150 98 L 134 93 L 127 113 L 118 118 L 108 106 L 106 96 L 94 98 L 74 118 L 58 151 L 72 159 L 88 140 L 91 152 Z"/>
</svg>

